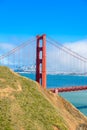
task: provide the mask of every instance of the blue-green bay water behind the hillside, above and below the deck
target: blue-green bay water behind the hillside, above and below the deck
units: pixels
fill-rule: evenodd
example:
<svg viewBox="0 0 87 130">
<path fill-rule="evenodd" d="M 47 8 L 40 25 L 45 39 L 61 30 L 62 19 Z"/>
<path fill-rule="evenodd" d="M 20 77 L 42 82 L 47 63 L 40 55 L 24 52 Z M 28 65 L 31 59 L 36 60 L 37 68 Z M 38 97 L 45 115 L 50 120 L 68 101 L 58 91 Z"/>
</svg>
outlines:
<svg viewBox="0 0 87 130">
<path fill-rule="evenodd" d="M 35 74 L 21 73 L 22 76 L 35 80 Z M 47 75 L 47 88 L 87 85 L 87 76 Z M 59 93 L 87 116 L 87 90 Z"/>
</svg>

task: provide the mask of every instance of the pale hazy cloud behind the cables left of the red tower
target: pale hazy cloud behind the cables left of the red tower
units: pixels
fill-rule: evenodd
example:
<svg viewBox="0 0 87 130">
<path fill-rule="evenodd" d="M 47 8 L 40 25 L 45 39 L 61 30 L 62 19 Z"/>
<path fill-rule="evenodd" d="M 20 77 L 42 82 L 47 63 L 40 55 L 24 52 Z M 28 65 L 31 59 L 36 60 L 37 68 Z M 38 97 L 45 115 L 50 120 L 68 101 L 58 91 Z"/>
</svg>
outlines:
<svg viewBox="0 0 87 130">
<path fill-rule="evenodd" d="M 19 47 L 19 46 L 18 46 Z M 16 48 L 16 49 L 15 49 Z M 13 50 L 14 49 L 14 50 Z M 13 50 L 13 51 L 11 51 Z M 20 47 L 11 43 L 0 43 L 0 63 L 1 65 L 9 66 L 31 66 L 35 60 L 35 44 L 28 44 L 27 46 Z M 9 52 L 10 51 L 10 52 Z"/>
</svg>

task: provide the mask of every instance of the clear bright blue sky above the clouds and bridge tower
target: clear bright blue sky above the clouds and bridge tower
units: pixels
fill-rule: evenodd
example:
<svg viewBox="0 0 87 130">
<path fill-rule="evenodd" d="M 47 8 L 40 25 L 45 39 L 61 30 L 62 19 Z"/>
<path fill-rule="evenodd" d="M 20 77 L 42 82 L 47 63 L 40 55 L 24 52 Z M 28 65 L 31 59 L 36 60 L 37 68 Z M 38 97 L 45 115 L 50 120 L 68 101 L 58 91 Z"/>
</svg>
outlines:
<svg viewBox="0 0 87 130">
<path fill-rule="evenodd" d="M 0 42 L 42 33 L 60 42 L 86 39 L 87 1 L 0 0 Z"/>
</svg>

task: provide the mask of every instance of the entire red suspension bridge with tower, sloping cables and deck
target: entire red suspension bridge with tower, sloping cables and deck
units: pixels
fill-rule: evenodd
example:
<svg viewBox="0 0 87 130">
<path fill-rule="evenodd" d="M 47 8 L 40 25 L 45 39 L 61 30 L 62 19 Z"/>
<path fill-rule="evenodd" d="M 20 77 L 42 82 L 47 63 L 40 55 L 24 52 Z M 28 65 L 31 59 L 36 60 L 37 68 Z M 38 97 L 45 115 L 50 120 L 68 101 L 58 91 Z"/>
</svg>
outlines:
<svg viewBox="0 0 87 130">
<path fill-rule="evenodd" d="M 67 48 L 63 44 L 43 34 L 36 36 L 20 44 L 11 51 L 0 56 L 0 65 L 8 66 L 14 71 L 35 72 L 36 81 L 47 88 L 47 75 L 74 75 L 83 76 L 84 82 L 80 86 L 72 81 L 72 85 L 59 87 L 58 79 L 51 79 L 56 82 L 50 91 L 70 92 L 87 89 L 87 58 Z M 50 82 L 51 82 L 50 80 Z M 61 81 L 63 82 L 63 81 Z M 81 83 L 81 78 L 78 82 Z"/>
</svg>

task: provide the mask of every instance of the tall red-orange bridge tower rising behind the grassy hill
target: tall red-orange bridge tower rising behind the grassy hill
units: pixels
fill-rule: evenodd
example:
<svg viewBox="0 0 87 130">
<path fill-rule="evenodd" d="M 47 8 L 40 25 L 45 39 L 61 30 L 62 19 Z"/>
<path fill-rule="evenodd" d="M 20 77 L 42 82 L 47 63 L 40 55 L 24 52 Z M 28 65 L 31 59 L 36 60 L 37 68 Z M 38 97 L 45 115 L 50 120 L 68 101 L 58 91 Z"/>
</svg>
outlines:
<svg viewBox="0 0 87 130">
<path fill-rule="evenodd" d="M 46 88 L 46 35 L 36 38 L 36 81 Z"/>
</svg>

